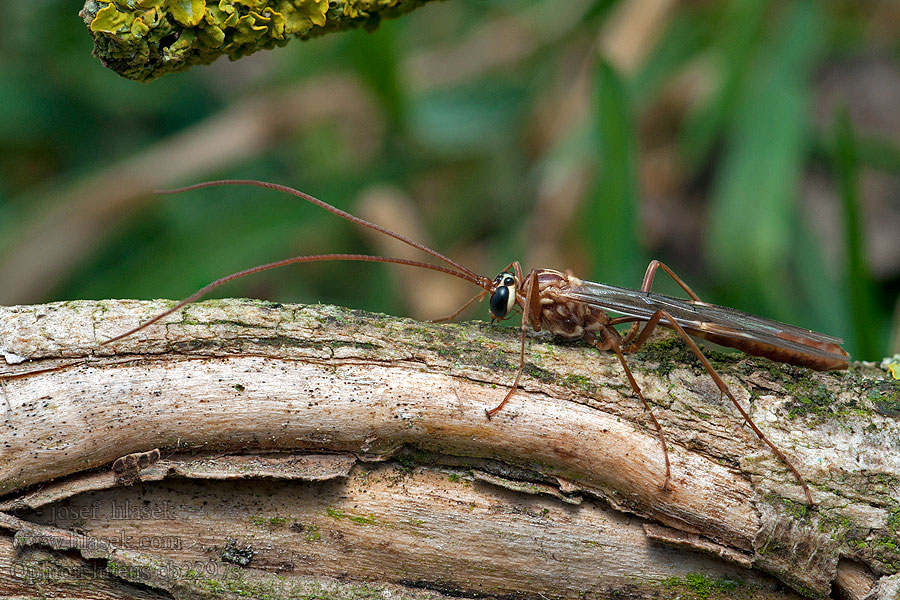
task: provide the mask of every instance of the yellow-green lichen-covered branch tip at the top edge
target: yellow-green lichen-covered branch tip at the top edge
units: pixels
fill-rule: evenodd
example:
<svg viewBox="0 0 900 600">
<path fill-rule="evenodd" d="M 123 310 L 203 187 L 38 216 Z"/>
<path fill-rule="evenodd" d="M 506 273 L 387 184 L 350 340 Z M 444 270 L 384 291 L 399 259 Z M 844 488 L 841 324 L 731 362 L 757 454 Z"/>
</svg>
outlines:
<svg viewBox="0 0 900 600">
<path fill-rule="evenodd" d="M 427 0 L 87 0 L 81 16 L 94 55 L 122 77 L 237 60 L 330 31 L 377 27 Z"/>
</svg>

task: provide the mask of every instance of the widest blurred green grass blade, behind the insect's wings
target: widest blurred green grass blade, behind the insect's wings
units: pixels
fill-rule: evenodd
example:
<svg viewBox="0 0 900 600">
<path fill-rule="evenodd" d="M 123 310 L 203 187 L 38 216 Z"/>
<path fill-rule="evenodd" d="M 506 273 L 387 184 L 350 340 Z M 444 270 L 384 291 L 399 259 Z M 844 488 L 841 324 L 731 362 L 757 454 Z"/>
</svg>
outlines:
<svg viewBox="0 0 900 600">
<path fill-rule="evenodd" d="M 820 10 L 810 0 L 790 3 L 765 38 L 736 105 L 709 212 L 706 254 L 730 286 L 726 300 L 783 320 L 801 316 L 803 302 L 789 265 Z"/>
</svg>

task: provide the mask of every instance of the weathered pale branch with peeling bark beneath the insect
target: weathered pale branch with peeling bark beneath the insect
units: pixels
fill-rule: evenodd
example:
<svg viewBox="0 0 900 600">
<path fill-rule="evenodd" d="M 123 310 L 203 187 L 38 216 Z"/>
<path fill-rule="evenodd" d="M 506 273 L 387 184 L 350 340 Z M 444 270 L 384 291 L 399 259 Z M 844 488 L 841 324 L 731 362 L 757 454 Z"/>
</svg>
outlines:
<svg viewBox="0 0 900 600">
<path fill-rule="evenodd" d="M 164 306 L 0 309 L 3 594 L 897 597 L 900 382 L 877 368 L 715 356 L 807 507 L 669 338 L 631 357 L 666 492 L 614 356 L 529 339 L 488 420 L 515 329 L 223 300 L 99 345 Z"/>
</svg>

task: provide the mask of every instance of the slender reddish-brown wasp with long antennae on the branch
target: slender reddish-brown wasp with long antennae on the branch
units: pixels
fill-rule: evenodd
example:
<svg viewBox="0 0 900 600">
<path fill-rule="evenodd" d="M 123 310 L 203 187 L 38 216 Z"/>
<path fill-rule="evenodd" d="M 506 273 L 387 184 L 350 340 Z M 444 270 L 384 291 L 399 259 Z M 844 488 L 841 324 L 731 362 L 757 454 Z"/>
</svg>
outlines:
<svg viewBox="0 0 900 600">
<path fill-rule="evenodd" d="M 371 223 L 350 213 L 342 211 L 309 194 L 289 188 L 287 186 L 267 183 L 255 180 L 220 180 L 198 183 L 187 187 L 167 190 L 161 193 L 176 194 L 190 190 L 209 188 L 224 185 L 250 185 L 296 196 L 302 200 L 315 204 L 325 210 L 346 219 L 357 225 L 367 227 L 383 233 L 394 239 L 412 246 L 432 256 L 443 265 L 436 265 L 416 260 L 403 258 L 391 258 L 385 256 L 372 256 L 366 254 L 317 254 L 310 256 L 296 256 L 264 265 L 251 267 L 237 273 L 232 273 L 209 285 L 201 288 L 193 295 L 185 298 L 169 310 L 160 313 L 152 319 L 142 323 L 138 327 L 117 335 L 103 342 L 109 344 L 125 338 L 141 329 L 159 321 L 174 313 L 187 304 L 198 300 L 212 289 L 239 277 L 244 277 L 260 271 L 274 269 L 290 264 L 318 262 L 326 260 L 353 260 L 364 262 L 380 262 L 399 265 L 408 265 L 422 269 L 429 269 L 458 277 L 481 288 L 481 291 L 464 304 L 455 313 L 440 320 L 452 320 L 463 310 L 475 302 L 489 298 L 489 309 L 492 321 L 502 321 L 510 318 L 515 312 L 521 311 L 521 341 L 519 345 L 519 366 L 515 379 L 503 400 L 494 408 L 487 410 L 487 418 L 497 414 L 513 397 L 519 387 L 522 369 L 525 366 L 525 341 L 528 326 L 535 331 L 546 330 L 550 333 L 568 340 L 583 340 L 598 350 L 612 351 L 618 358 L 625 376 L 628 379 L 635 396 L 641 401 L 644 409 L 653 423 L 662 447 L 663 460 L 665 461 L 666 476 L 662 483 L 662 490 L 671 489 L 671 464 L 669 451 L 666 445 L 665 434 L 656 420 L 656 416 L 650 409 L 650 405 L 644 398 L 640 386 L 635 381 L 625 360 L 625 354 L 634 352 L 647 341 L 650 334 L 658 325 L 674 329 L 684 340 L 691 351 L 696 355 L 703 367 L 712 377 L 721 393 L 728 397 L 737 410 L 743 416 L 744 421 L 754 433 L 762 440 L 781 461 L 787 465 L 803 488 L 809 503 L 814 504 L 812 494 L 806 485 L 803 476 L 794 467 L 793 463 L 778 449 L 762 431 L 756 426 L 750 415 L 743 409 L 731 390 L 722 380 L 709 360 L 700 351 L 700 348 L 691 336 L 702 338 L 720 344 L 736 348 L 747 354 L 761 356 L 770 360 L 807 367 L 819 371 L 832 369 L 846 369 L 849 355 L 841 348 L 842 341 L 839 338 L 816 333 L 808 329 L 778 323 L 762 317 L 757 317 L 739 310 L 707 304 L 700 300 L 697 294 L 684 283 L 669 267 L 659 261 L 652 261 L 647 267 L 644 281 L 640 290 L 620 288 L 601 283 L 583 281 L 575 277 L 570 271 L 556 271 L 553 269 L 533 269 L 527 274 L 522 270 L 518 262 L 507 265 L 499 275 L 490 279 L 478 275 L 454 260 L 444 256 L 440 252 L 432 250 L 405 236 L 391 231 L 381 225 Z M 445 266 L 447 265 L 447 266 Z M 662 294 L 651 292 L 653 279 L 659 269 L 662 269 L 671 277 L 684 292 L 690 297 L 682 300 Z M 609 313 L 615 313 L 617 317 L 611 317 Z M 630 324 L 630 329 L 623 335 L 617 326 Z"/>
</svg>

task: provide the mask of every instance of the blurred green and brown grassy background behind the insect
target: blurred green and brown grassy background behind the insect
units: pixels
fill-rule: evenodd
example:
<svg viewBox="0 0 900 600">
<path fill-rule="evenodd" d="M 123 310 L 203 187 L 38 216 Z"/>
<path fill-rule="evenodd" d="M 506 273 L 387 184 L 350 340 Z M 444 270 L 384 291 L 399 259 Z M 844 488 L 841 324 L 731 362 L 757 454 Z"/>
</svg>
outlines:
<svg viewBox="0 0 900 600">
<path fill-rule="evenodd" d="M 491 277 L 518 259 L 639 287 L 659 258 L 854 358 L 900 351 L 895 2 L 452 0 L 149 84 L 91 56 L 79 9 L 4 9 L 0 303 L 180 298 L 287 256 L 401 252 L 273 192 L 151 193 L 255 178 Z M 446 279 L 320 263 L 219 295 L 431 318 L 477 291 Z"/>
</svg>

